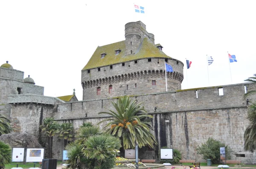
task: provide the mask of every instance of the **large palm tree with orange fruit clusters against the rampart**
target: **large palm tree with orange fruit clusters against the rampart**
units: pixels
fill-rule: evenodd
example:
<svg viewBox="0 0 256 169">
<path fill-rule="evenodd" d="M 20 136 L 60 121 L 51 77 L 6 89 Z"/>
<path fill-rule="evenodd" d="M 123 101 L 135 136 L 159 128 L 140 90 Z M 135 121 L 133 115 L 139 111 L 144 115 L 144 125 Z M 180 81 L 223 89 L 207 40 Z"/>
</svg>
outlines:
<svg viewBox="0 0 256 169">
<path fill-rule="evenodd" d="M 109 110 L 109 112 L 101 112 L 99 114 L 111 115 L 104 121 L 110 121 L 105 126 L 107 133 L 117 136 L 122 141 L 124 149 L 134 149 L 135 145 L 141 148 L 142 146 L 149 146 L 154 148 L 157 141 L 151 133 L 151 119 L 152 115 L 148 115 L 144 106 L 136 101 L 131 101 L 128 96 L 120 97 L 116 103 L 112 102 L 116 112 Z"/>
</svg>

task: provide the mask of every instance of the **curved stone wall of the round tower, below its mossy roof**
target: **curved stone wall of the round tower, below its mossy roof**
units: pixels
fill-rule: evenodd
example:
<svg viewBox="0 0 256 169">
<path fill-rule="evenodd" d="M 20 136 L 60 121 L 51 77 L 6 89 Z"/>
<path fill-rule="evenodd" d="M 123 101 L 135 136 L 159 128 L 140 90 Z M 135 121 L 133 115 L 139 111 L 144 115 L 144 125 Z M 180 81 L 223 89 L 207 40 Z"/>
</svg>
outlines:
<svg viewBox="0 0 256 169">
<path fill-rule="evenodd" d="M 125 62 L 122 64 L 82 71 L 82 82 L 84 85 L 84 98 L 91 99 L 110 98 L 123 96 L 125 94 L 145 94 L 166 91 L 165 80 L 165 59 L 151 58 Z M 174 72 L 167 73 L 167 88 L 169 91 L 181 88 L 183 80 L 183 63 L 176 59 L 168 59 L 168 64 L 172 65 Z M 93 77 L 93 78 L 92 78 Z M 85 81 L 86 79 L 86 81 Z M 152 80 L 156 85 L 152 85 Z M 113 86 L 113 93 L 109 93 L 109 85 Z M 127 86 L 128 85 L 128 86 Z M 96 95 L 97 87 L 101 87 L 101 95 Z M 127 90 L 128 89 L 128 90 Z"/>
</svg>

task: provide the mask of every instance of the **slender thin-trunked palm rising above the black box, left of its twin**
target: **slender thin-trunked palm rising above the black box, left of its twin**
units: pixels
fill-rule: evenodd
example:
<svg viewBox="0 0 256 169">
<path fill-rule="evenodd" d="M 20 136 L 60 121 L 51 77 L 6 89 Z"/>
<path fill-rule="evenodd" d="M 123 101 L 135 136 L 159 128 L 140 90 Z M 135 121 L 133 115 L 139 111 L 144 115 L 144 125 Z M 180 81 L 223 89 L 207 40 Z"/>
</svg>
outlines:
<svg viewBox="0 0 256 169">
<path fill-rule="evenodd" d="M 60 125 L 53 118 L 45 118 L 41 128 L 48 138 L 48 158 L 52 158 L 52 140 L 53 136 L 58 134 Z"/>
</svg>

